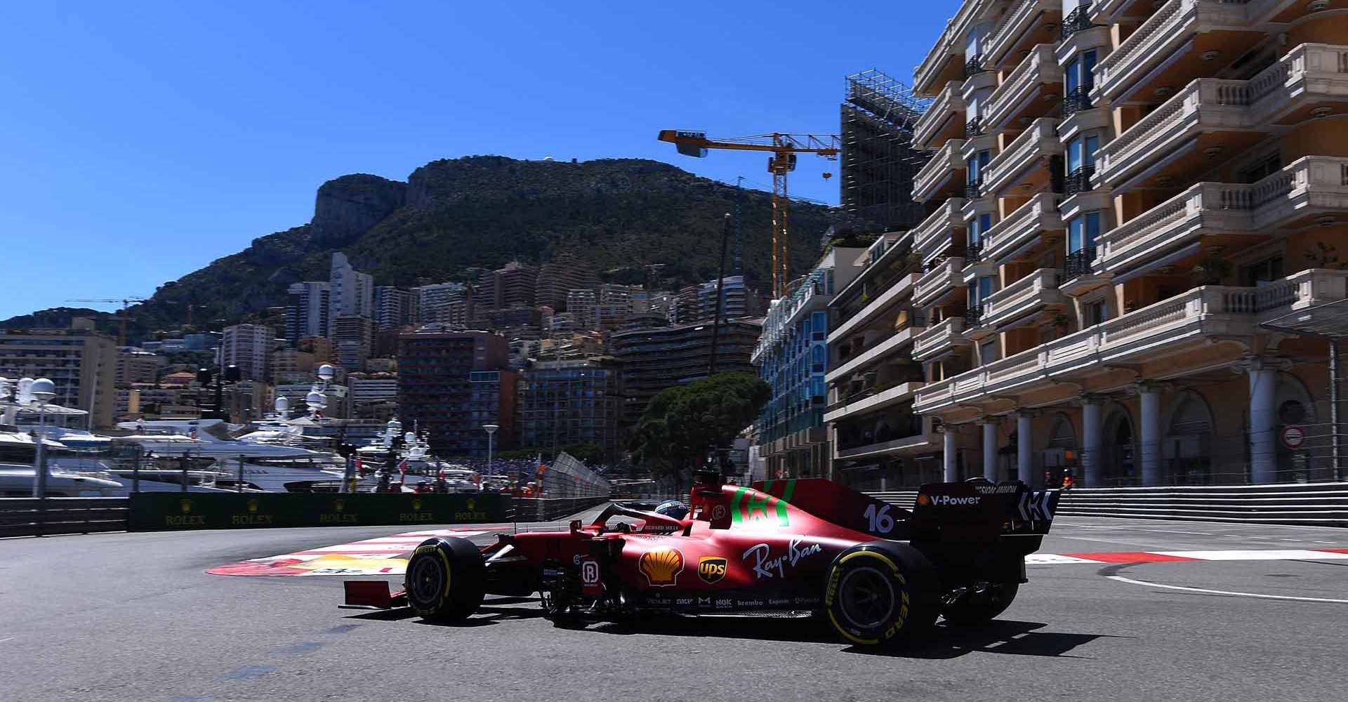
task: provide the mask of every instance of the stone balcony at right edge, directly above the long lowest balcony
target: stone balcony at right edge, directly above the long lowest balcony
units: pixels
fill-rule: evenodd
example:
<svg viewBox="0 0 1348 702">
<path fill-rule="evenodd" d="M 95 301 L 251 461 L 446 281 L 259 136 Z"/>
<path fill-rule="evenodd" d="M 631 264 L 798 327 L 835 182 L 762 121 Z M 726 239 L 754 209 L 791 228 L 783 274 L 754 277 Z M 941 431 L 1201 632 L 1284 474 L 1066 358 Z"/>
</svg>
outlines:
<svg viewBox="0 0 1348 702">
<path fill-rule="evenodd" d="M 1251 185 L 1196 183 L 1100 236 L 1095 268 L 1116 274 L 1205 236 L 1270 236 L 1348 209 L 1348 158 L 1305 156 Z"/>
</svg>

